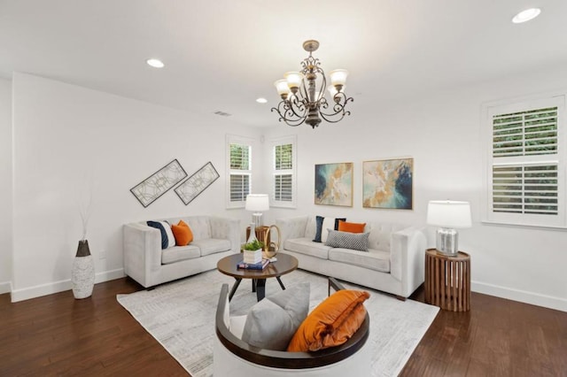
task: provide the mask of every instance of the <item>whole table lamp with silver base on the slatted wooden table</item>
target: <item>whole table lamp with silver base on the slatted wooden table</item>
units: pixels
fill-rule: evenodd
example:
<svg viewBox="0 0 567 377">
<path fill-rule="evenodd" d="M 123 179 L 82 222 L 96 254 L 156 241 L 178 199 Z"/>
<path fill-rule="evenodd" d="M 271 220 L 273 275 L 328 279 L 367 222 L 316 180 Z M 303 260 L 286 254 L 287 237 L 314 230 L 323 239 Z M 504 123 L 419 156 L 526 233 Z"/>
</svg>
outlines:
<svg viewBox="0 0 567 377">
<path fill-rule="evenodd" d="M 427 205 L 427 224 L 437 229 L 436 249 L 444 255 L 455 257 L 459 252 L 457 228 L 471 227 L 469 202 L 431 200 Z"/>
</svg>

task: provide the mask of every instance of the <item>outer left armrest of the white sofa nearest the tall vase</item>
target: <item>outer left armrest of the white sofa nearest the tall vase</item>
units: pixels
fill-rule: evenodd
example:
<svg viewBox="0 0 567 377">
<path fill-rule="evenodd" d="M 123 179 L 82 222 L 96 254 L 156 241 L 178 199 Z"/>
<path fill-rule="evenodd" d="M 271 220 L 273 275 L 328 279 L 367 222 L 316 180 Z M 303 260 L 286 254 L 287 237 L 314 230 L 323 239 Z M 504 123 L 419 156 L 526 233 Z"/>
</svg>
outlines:
<svg viewBox="0 0 567 377">
<path fill-rule="evenodd" d="M 161 234 L 159 229 L 141 223 L 123 227 L 124 273 L 148 287 L 152 272 L 161 265 Z"/>
</svg>

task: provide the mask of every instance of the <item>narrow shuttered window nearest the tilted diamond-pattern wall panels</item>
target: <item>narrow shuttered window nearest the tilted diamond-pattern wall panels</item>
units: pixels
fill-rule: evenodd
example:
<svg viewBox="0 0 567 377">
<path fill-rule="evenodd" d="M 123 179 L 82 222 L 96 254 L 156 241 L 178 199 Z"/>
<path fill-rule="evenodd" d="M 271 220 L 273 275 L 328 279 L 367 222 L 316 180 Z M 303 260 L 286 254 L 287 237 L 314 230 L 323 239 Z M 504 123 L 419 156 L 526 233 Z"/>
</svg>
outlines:
<svg viewBox="0 0 567 377">
<path fill-rule="evenodd" d="M 238 136 L 227 136 L 228 208 L 244 207 L 252 184 L 252 142 Z"/>
</svg>

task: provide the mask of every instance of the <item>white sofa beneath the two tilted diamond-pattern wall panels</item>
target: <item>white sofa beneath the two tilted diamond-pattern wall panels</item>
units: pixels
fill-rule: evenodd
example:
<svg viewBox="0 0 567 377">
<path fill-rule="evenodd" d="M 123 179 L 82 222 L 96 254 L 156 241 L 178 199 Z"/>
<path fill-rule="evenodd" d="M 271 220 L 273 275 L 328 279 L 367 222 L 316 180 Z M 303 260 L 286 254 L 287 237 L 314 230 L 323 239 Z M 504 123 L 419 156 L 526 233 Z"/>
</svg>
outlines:
<svg viewBox="0 0 567 377">
<path fill-rule="evenodd" d="M 148 288 L 213 270 L 219 259 L 240 252 L 240 220 L 214 216 L 165 220 L 177 224 L 180 219 L 189 225 L 193 241 L 164 250 L 159 229 L 146 221 L 124 225 L 124 273 Z"/>
</svg>

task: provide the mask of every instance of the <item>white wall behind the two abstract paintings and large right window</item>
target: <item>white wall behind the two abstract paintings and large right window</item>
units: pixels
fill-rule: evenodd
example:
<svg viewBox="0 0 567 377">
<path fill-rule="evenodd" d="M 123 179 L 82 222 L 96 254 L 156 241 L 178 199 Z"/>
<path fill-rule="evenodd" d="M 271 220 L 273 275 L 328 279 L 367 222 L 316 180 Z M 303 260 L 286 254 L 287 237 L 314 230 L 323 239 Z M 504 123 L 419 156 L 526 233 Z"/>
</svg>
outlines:
<svg viewBox="0 0 567 377">
<path fill-rule="evenodd" d="M 466 200 L 472 206 L 473 227 L 460 232 L 460 249 L 471 256 L 472 289 L 567 311 L 567 231 L 480 222 L 481 104 L 558 88 L 567 88 L 565 69 L 392 104 L 374 104 L 362 94 L 354 98 L 352 116 L 338 124 L 322 123 L 315 130 L 278 125 L 265 132 L 266 140 L 298 134 L 298 209 L 272 208 L 265 214 L 265 223 L 278 217 L 321 214 L 425 227 L 429 200 Z M 268 150 L 265 154 L 269 156 Z M 414 158 L 414 210 L 363 209 L 362 161 L 399 157 Z M 354 163 L 352 208 L 314 204 L 314 165 L 337 162 Z M 264 184 L 267 189 L 268 181 Z M 435 245 L 433 232 L 428 229 L 430 247 Z"/>
</svg>

